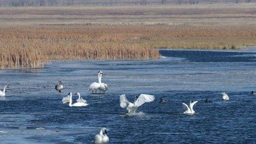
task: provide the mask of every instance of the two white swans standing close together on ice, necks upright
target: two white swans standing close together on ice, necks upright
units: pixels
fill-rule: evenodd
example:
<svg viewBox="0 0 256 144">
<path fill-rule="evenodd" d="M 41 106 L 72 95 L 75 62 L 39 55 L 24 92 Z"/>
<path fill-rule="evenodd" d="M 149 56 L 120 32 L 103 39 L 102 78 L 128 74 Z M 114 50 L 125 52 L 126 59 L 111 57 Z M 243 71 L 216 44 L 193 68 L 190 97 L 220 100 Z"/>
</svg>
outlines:
<svg viewBox="0 0 256 144">
<path fill-rule="evenodd" d="M 89 88 L 88 88 L 88 92 L 92 90 L 92 94 L 93 91 L 95 90 L 95 94 L 97 92 L 97 90 L 102 90 L 105 94 L 105 92 L 108 91 L 108 85 L 104 84 L 101 82 L 101 77 L 102 77 L 102 71 L 98 72 L 98 83 L 97 82 L 93 82 L 92 84 L 90 84 Z"/>
</svg>

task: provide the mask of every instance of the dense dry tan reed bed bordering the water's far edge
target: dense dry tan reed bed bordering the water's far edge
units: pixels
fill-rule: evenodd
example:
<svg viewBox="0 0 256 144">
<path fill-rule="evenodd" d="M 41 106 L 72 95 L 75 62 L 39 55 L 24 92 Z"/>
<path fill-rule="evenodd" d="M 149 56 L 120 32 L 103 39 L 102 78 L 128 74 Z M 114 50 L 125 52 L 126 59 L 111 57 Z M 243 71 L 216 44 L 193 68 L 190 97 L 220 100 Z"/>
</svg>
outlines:
<svg viewBox="0 0 256 144">
<path fill-rule="evenodd" d="M 256 45 L 256 26 L 36 25 L 1 27 L 0 38 L 3 69 L 48 60 L 160 58 L 155 48 L 240 48 Z"/>
</svg>

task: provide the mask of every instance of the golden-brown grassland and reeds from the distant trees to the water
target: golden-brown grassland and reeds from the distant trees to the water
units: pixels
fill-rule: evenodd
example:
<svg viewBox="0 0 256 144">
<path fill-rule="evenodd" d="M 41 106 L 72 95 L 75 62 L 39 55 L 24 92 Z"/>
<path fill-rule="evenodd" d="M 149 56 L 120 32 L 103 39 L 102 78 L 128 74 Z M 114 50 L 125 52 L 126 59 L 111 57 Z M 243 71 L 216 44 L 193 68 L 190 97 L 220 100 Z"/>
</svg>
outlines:
<svg viewBox="0 0 256 144">
<path fill-rule="evenodd" d="M 256 3 L 0 6 L 0 69 L 256 46 Z"/>
</svg>

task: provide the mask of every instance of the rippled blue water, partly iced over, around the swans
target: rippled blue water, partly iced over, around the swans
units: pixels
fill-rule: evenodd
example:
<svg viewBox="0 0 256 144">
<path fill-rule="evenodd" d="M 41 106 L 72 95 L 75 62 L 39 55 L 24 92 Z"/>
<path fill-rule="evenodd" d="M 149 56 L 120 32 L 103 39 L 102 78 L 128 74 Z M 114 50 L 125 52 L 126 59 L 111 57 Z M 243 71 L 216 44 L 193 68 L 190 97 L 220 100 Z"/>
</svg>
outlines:
<svg viewBox="0 0 256 144">
<path fill-rule="evenodd" d="M 52 61 L 44 68 L 0 70 L 1 144 L 88 144 L 106 127 L 109 144 L 255 143 L 256 51 L 160 50 L 160 60 Z M 87 88 L 108 84 L 105 94 Z M 64 89 L 54 89 L 61 80 Z M 89 104 L 62 98 L 80 92 Z M 222 101 L 221 92 L 230 100 Z M 151 94 L 154 102 L 124 114 L 119 96 Z M 168 102 L 160 102 L 160 98 Z M 205 103 L 204 100 L 212 100 Z M 182 102 L 198 101 L 196 114 Z"/>
</svg>

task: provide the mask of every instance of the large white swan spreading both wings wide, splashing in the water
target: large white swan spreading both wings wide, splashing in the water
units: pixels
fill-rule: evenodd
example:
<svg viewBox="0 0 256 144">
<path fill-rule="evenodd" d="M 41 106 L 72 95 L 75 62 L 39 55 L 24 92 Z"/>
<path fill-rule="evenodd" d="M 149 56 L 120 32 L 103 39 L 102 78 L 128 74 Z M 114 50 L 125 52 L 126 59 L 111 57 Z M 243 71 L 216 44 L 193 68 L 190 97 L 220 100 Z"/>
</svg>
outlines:
<svg viewBox="0 0 256 144">
<path fill-rule="evenodd" d="M 126 99 L 126 96 L 124 94 L 120 96 L 120 106 L 122 108 L 126 108 L 126 113 L 133 113 L 138 109 L 139 106 L 141 106 L 145 102 L 152 102 L 155 99 L 153 95 L 148 94 L 141 94 L 139 98 L 136 100 L 137 97 L 138 96 L 136 95 L 134 103 L 131 103 Z"/>
</svg>

